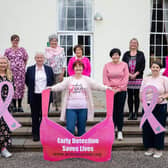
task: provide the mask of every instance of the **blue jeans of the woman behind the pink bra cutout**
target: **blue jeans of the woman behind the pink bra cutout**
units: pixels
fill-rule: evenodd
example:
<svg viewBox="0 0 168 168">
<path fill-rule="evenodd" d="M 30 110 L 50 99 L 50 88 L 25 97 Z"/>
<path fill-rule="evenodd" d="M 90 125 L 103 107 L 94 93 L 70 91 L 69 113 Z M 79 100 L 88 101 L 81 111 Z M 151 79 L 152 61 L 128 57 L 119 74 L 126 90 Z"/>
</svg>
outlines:
<svg viewBox="0 0 168 168">
<path fill-rule="evenodd" d="M 77 124 L 78 136 L 85 133 L 88 109 L 66 109 L 66 127 L 72 134 L 75 134 Z"/>
</svg>

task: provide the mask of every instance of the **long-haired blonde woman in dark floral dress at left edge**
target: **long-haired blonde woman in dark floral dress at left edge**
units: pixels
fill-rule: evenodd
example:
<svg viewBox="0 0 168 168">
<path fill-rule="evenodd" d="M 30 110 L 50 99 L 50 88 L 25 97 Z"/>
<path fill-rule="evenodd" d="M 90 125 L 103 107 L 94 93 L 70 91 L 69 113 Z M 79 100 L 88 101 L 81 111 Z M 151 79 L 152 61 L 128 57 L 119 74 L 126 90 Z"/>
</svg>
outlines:
<svg viewBox="0 0 168 168">
<path fill-rule="evenodd" d="M 12 72 L 9 67 L 9 61 L 6 57 L 0 56 L 0 82 L 9 81 L 12 82 Z M 8 86 L 4 85 L 2 87 L 1 97 L 3 101 L 8 96 Z M 9 105 L 8 110 L 12 112 L 12 106 Z M 12 154 L 7 150 L 9 146 L 11 146 L 11 132 L 9 130 L 8 125 L 6 124 L 3 117 L 0 118 L 0 149 L 1 149 L 1 156 L 8 158 L 11 157 Z"/>
</svg>

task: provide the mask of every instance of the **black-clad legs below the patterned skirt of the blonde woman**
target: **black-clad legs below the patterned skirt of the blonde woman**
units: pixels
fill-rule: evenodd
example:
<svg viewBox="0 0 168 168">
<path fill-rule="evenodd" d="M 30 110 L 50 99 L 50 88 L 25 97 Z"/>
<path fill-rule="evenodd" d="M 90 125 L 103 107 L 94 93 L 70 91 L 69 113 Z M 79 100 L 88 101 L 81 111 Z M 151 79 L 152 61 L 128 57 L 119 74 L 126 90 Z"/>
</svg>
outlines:
<svg viewBox="0 0 168 168">
<path fill-rule="evenodd" d="M 128 108 L 129 108 L 129 112 L 130 113 L 133 113 L 133 112 L 138 113 L 139 103 L 140 103 L 139 89 L 128 89 L 127 93 L 128 93 Z M 134 104 L 135 104 L 135 111 L 133 111 L 133 105 Z"/>
</svg>

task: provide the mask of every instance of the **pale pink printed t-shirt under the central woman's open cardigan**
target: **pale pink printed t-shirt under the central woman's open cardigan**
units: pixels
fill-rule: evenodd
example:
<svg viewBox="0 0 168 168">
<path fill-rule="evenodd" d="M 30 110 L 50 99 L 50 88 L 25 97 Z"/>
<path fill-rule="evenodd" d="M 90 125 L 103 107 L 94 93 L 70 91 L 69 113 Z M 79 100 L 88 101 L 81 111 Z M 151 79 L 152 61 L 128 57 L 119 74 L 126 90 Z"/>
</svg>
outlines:
<svg viewBox="0 0 168 168">
<path fill-rule="evenodd" d="M 67 109 L 86 109 L 86 82 L 80 78 L 73 78 L 68 86 L 69 98 Z"/>
</svg>

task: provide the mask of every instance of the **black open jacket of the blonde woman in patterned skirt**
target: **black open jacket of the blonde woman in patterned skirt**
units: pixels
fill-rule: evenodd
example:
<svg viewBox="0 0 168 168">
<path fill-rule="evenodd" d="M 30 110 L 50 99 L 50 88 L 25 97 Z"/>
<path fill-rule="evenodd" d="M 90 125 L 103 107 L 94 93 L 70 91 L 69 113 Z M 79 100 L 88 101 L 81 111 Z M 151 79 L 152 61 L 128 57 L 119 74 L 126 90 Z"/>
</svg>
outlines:
<svg viewBox="0 0 168 168">
<path fill-rule="evenodd" d="M 125 52 L 122 60 L 128 64 L 130 59 L 131 59 L 130 51 Z M 144 69 L 145 69 L 144 53 L 142 51 L 137 51 L 135 73 L 138 71 L 139 75 L 137 75 L 136 78 L 143 78 Z"/>
</svg>

